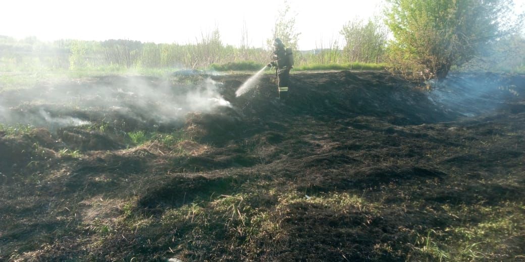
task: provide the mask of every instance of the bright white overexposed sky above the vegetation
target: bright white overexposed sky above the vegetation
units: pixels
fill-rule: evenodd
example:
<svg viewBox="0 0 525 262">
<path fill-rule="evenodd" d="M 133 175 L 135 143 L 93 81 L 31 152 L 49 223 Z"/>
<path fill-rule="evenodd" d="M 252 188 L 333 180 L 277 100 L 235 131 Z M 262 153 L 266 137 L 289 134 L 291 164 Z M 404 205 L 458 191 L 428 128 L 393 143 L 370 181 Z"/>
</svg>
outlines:
<svg viewBox="0 0 525 262">
<path fill-rule="evenodd" d="M 514 0 L 525 10 L 525 0 Z M 383 0 L 288 0 L 295 15 L 299 49 L 325 47 L 342 37 L 343 25 L 381 14 Z M 155 43 L 193 43 L 220 32 L 223 43 L 238 46 L 246 26 L 248 43 L 262 47 L 283 0 L 7 0 L 0 9 L 0 35 L 22 39 L 129 39 Z"/>
</svg>

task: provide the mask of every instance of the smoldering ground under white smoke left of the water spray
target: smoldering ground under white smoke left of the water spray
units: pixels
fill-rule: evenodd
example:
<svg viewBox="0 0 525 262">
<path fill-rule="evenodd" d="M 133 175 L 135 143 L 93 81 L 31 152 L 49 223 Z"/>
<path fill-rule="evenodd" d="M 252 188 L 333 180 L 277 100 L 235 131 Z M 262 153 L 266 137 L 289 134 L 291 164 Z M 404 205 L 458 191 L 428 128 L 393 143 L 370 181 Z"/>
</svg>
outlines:
<svg viewBox="0 0 525 262">
<path fill-rule="evenodd" d="M 0 96 L 0 123 L 56 129 L 91 123 L 177 125 L 188 112 L 230 107 L 209 78 L 98 77 Z M 130 127 L 128 127 L 130 128 Z"/>
</svg>

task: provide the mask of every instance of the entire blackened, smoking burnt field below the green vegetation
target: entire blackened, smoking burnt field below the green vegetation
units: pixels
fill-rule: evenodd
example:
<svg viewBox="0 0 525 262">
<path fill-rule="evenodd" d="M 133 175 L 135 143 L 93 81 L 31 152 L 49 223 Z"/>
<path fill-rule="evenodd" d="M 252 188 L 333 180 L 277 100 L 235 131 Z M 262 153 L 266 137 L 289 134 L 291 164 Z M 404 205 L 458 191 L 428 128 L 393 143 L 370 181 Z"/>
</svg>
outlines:
<svg viewBox="0 0 525 262">
<path fill-rule="evenodd" d="M 0 260 L 525 260 L 525 76 L 249 77 L 0 92 Z"/>
</svg>

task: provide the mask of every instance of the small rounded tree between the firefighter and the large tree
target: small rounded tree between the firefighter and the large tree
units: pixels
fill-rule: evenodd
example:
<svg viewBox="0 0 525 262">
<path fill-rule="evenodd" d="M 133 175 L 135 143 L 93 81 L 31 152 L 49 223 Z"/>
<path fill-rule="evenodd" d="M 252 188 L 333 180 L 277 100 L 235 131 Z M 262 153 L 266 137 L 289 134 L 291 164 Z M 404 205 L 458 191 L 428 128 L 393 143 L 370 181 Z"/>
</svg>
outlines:
<svg viewBox="0 0 525 262">
<path fill-rule="evenodd" d="M 379 19 L 349 21 L 341 35 L 346 41 L 343 51 L 348 61 L 379 63 L 383 59 L 388 31 Z"/>
</svg>

